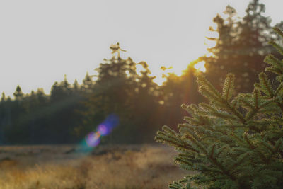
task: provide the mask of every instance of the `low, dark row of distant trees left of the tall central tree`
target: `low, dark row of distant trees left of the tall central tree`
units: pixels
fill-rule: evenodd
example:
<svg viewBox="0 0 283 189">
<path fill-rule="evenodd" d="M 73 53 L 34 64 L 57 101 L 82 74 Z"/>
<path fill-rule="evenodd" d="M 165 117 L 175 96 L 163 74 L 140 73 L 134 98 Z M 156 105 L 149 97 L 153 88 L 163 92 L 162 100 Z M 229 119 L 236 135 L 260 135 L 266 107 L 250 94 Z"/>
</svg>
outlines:
<svg viewBox="0 0 283 189">
<path fill-rule="evenodd" d="M 50 96 L 39 88 L 23 94 L 17 86 L 15 99 L 2 95 L 0 102 L 1 144 L 70 143 L 78 139 L 74 128 L 81 117 L 79 86 L 71 86 L 67 79 L 55 82 Z"/>
</svg>

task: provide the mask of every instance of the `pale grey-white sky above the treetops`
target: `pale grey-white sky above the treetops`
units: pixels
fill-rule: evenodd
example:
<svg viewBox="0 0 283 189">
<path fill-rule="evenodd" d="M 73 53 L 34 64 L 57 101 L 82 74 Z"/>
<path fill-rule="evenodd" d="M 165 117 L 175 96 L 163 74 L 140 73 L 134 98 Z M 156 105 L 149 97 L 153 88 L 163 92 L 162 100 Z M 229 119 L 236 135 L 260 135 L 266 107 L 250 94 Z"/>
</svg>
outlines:
<svg viewBox="0 0 283 189">
<path fill-rule="evenodd" d="M 12 96 L 44 88 L 50 93 L 64 74 L 81 84 L 86 75 L 111 57 L 120 42 L 125 57 L 180 73 L 204 55 L 205 36 L 216 13 L 226 5 L 240 16 L 248 0 L 0 0 L 0 92 Z M 272 23 L 282 21 L 282 0 L 261 0 Z"/>
</svg>

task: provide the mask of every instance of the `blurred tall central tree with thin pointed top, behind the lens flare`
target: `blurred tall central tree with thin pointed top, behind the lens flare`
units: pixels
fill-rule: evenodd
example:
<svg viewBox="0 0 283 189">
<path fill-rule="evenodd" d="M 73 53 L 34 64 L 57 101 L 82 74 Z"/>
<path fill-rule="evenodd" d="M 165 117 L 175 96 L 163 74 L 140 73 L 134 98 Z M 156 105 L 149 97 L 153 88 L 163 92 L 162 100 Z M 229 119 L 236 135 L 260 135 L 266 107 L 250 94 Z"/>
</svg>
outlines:
<svg viewBox="0 0 283 189">
<path fill-rule="evenodd" d="M 119 117 L 120 126 L 108 137 L 108 142 L 152 141 L 158 108 L 158 92 L 154 77 L 146 62 L 135 63 L 130 57 L 120 57 L 119 44 L 110 47 L 115 54 L 105 59 L 96 69 L 97 80 L 85 101 L 86 110 L 82 112 L 83 126 L 94 130 L 96 125 L 111 114 Z M 141 67 L 141 72 L 137 72 Z M 142 116 L 138 116 L 142 115 Z"/>
</svg>

